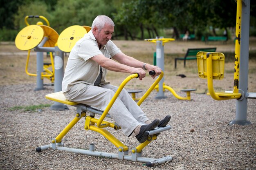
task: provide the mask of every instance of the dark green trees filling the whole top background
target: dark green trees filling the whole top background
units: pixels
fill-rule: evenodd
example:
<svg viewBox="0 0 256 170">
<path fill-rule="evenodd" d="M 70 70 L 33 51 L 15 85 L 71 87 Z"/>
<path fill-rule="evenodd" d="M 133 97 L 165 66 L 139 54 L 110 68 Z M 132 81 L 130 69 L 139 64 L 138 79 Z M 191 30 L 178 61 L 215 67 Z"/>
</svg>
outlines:
<svg viewBox="0 0 256 170">
<path fill-rule="evenodd" d="M 250 35 L 255 35 L 256 1 L 251 0 Z M 14 31 L 24 28 L 26 15 L 43 15 L 58 33 L 68 26 L 91 26 L 97 15 L 108 15 L 115 22 L 113 38 L 144 39 L 162 36 L 159 31 L 173 28 L 175 38 L 189 30 L 198 35 L 213 34 L 215 28 L 236 24 L 235 0 L 2 0 L 1 40 L 13 40 Z M 29 24 L 43 21 L 29 18 Z M 209 26 L 213 29 L 209 30 Z M 10 31 L 10 33 L 9 33 Z M 212 32 L 210 32 L 212 31 Z M 160 34 L 159 34 L 160 33 Z"/>
</svg>

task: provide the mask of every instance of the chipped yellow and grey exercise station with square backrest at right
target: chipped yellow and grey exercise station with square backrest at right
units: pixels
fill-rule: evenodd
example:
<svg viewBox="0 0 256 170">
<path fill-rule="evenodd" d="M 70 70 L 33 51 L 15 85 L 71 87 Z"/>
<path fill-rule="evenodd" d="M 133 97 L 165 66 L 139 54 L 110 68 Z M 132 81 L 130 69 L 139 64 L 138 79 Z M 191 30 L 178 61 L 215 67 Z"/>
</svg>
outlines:
<svg viewBox="0 0 256 170">
<path fill-rule="evenodd" d="M 243 13 L 242 13 L 243 12 Z M 234 89 L 215 93 L 213 79 L 224 77 L 225 56 L 222 53 L 198 52 L 198 75 L 200 78 L 207 78 L 207 95 L 216 100 L 236 100 L 236 119 L 229 122 L 229 125 L 249 125 L 247 121 L 247 98 L 256 99 L 256 93 L 248 93 L 248 61 L 249 61 L 249 17 L 250 0 L 237 0 L 236 13 L 236 48 L 234 67 Z M 240 60 L 241 59 L 241 60 Z"/>
</svg>

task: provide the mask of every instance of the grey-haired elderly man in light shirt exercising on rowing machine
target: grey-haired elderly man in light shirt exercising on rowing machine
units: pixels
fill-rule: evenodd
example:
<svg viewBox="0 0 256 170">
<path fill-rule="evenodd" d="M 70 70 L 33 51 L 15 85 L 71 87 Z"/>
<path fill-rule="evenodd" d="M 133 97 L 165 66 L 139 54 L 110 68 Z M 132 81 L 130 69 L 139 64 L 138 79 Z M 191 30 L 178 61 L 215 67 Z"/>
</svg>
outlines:
<svg viewBox="0 0 256 170">
<path fill-rule="evenodd" d="M 138 73 L 140 80 L 146 75 L 144 70 L 155 71 L 156 74 L 151 75 L 153 78 L 161 73 L 161 68 L 122 53 L 111 41 L 114 26 L 108 16 L 99 15 L 94 19 L 91 31 L 76 42 L 62 82 L 62 91 L 68 100 L 105 110 L 118 88 L 106 82 L 107 70 Z M 109 114 L 125 135 L 129 137 L 134 132 L 140 143 L 146 141 L 146 131 L 156 126 L 166 126 L 171 118 L 167 115 L 161 121 L 149 121 L 125 89 L 110 108 Z"/>
</svg>

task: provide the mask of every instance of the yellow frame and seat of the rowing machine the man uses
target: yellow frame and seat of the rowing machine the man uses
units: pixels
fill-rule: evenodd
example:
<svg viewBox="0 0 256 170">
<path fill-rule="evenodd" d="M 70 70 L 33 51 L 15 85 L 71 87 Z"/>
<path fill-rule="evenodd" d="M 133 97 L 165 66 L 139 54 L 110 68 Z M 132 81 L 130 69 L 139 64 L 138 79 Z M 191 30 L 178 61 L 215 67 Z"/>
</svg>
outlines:
<svg viewBox="0 0 256 170">
<path fill-rule="evenodd" d="M 140 104 L 146 99 L 146 97 L 148 97 L 150 92 L 154 90 L 155 86 L 159 83 L 159 81 L 162 79 L 163 76 L 164 76 L 164 73 L 162 72 L 159 75 L 159 77 L 155 80 L 155 82 L 150 86 L 148 91 L 146 91 L 146 93 L 141 97 L 141 99 L 137 103 L 138 106 L 140 106 Z M 52 143 L 55 143 L 55 142 L 59 143 L 59 142 L 61 142 L 61 139 L 81 119 L 81 117 L 85 117 L 86 116 L 85 117 L 85 127 L 84 127 L 85 130 L 93 130 L 95 132 L 99 132 L 101 135 L 106 137 L 106 139 L 108 139 L 112 144 L 114 144 L 119 149 L 120 152 L 121 151 L 127 151 L 128 147 L 126 145 L 124 145 L 121 141 L 119 141 L 117 138 L 115 138 L 106 129 L 103 129 L 105 127 L 110 127 L 110 128 L 114 128 L 115 130 L 118 130 L 118 129 L 120 129 L 120 127 L 115 125 L 115 123 L 112 123 L 112 122 L 109 122 L 109 121 L 105 121 L 104 119 L 105 119 L 106 115 L 108 114 L 108 111 L 110 110 L 110 108 L 114 104 L 115 100 L 117 99 L 118 95 L 121 93 L 121 91 L 124 88 L 124 86 L 131 79 L 137 78 L 137 77 L 138 77 L 138 74 L 132 74 L 132 75 L 129 75 L 128 77 L 126 77 L 126 79 L 124 79 L 124 81 L 121 83 L 121 85 L 117 89 L 117 92 L 115 93 L 115 95 L 111 99 L 110 103 L 108 104 L 106 110 L 103 111 L 103 114 L 101 115 L 101 117 L 99 119 L 91 117 L 90 115 L 86 116 L 85 112 L 81 112 L 80 115 L 76 114 L 76 117 L 61 131 L 61 133 L 54 140 L 52 140 Z M 47 99 L 50 99 L 50 100 L 53 100 L 53 101 L 56 101 L 56 102 L 61 102 L 61 103 L 69 104 L 69 105 L 73 105 L 73 106 L 78 104 L 76 102 L 68 101 L 65 98 L 65 96 L 63 95 L 62 92 L 52 93 L 52 94 L 46 95 L 45 97 Z M 136 147 L 136 152 L 137 153 L 141 152 L 141 150 L 143 148 L 145 148 L 151 141 L 153 141 L 155 139 L 157 139 L 156 135 L 150 135 L 148 137 L 148 140 L 146 140 L 142 144 L 139 144 L 139 146 Z M 132 152 L 134 153 L 135 151 L 132 151 Z"/>
</svg>

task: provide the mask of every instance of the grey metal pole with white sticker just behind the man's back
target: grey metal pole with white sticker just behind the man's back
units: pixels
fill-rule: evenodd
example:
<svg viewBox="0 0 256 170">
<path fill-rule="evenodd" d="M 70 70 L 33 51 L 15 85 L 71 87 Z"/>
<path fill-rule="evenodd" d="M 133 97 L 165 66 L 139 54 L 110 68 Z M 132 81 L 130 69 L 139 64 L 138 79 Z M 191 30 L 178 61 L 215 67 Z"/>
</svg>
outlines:
<svg viewBox="0 0 256 170">
<path fill-rule="evenodd" d="M 64 53 L 58 46 L 55 46 L 54 69 L 54 92 L 59 92 L 62 91 L 61 84 L 64 77 Z M 50 109 L 65 110 L 68 107 L 65 104 L 54 102 Z"/>
</svg>

